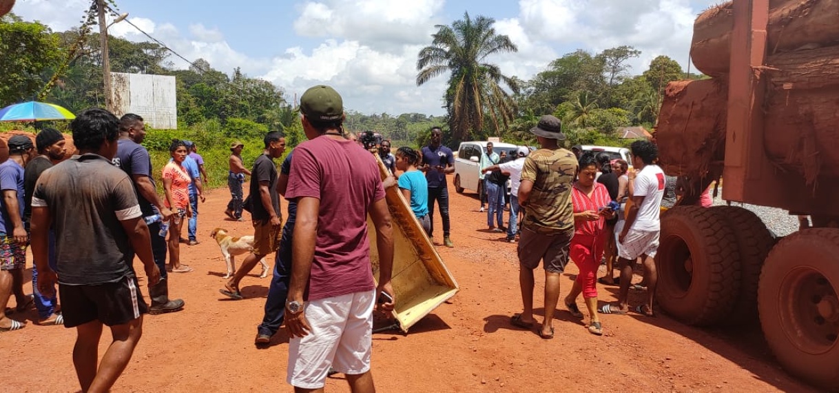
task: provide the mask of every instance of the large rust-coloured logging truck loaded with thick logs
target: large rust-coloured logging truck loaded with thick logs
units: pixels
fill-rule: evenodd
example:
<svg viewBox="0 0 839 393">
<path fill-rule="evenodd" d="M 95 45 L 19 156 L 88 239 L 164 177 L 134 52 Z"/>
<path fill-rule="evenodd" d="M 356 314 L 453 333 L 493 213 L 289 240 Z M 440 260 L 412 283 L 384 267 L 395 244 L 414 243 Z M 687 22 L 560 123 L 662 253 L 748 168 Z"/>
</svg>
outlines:
<svg viewBox="0 0 839 393">
<path fill-rule="evenodd" d="M 661 217 L 657 300 L 693 325 L 757 323 L 790 374 L 839 390 L 839 0 L 734 0 L 702 13 L 691 57 L 710 79 L 664 93 L 664 171 L 690 179 Z M 722 197 L 808 215 L 775 238 Z M 717 183 L 719 184 L 719 183 Z"/>
</svg>

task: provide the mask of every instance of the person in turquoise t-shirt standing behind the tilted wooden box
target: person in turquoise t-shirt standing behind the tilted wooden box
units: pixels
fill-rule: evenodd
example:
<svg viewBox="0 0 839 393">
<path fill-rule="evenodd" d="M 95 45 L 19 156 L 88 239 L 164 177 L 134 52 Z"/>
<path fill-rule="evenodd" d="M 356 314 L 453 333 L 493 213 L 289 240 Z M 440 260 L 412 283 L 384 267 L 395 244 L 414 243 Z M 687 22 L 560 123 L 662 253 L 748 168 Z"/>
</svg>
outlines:
<svg viewBox="0 0 839 393">
<path fill-rule="evenodd" d="M 404 171 L 404 174 L 399 176 L 399 190 L 410 202 L 414 216 L 428 234 L 431 230 L 431 220 L 428 217 L 428 182 L 425 181 L 425 174 L 417 169 L 420 157 L 419 151 L 408 146 L 400 147 L 396 150 L 396 169 Z"/>
</svg>

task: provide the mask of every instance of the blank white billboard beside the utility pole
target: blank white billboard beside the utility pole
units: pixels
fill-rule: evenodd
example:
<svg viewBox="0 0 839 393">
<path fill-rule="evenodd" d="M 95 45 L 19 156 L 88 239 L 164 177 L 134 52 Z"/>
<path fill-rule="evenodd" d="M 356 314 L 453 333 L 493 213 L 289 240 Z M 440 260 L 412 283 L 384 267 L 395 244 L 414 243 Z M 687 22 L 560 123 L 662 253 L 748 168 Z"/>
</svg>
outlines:
<svg viewBox="0 0 839 393">
<path fill-rule="evenodd" d="M 114 114 L 136 113 L 152 128 L 178 128 L 175 76 L 111 73 Z"/>
</svg>

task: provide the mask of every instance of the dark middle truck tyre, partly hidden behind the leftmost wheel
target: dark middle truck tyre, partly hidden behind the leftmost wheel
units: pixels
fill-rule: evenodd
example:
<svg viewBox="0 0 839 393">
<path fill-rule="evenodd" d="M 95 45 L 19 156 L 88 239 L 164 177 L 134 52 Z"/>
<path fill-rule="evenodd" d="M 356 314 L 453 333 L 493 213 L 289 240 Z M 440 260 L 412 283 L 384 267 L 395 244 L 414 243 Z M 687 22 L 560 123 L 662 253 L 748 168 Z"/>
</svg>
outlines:
<svg viewBox="0 0 839 393">
<path fill-rule="evenodd" d="M 730 326 L 758 323 L 758 280 L 763 261 L 775 244 L 774 236 L 763 221 L 751 211 L 737 206 L 715 206 L 711 210 L 726 217 L 737 239 L 740 252 L 740 296 L 731 315 L 724 321 Z"/>
</svg>

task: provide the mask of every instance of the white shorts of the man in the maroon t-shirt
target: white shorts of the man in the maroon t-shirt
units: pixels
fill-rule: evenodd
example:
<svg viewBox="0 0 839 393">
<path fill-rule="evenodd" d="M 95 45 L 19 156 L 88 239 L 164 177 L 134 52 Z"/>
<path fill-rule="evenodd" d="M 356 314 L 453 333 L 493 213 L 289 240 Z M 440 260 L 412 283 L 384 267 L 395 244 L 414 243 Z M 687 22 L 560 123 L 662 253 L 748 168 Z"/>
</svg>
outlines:
<svg viewBox="0 0 839 393">
<path fill-rule="evenodd" d="M 349 375 L 370 370 L 375 296 L 373 290 L 306 303 L 311 330 L 289 340 L 289 385 L 322 388 L 330 367 Z"/>
</svg>

